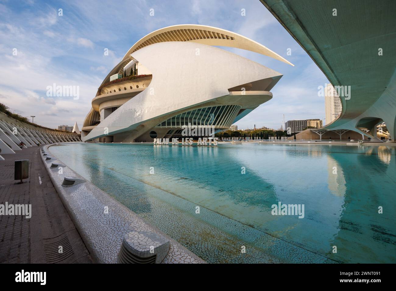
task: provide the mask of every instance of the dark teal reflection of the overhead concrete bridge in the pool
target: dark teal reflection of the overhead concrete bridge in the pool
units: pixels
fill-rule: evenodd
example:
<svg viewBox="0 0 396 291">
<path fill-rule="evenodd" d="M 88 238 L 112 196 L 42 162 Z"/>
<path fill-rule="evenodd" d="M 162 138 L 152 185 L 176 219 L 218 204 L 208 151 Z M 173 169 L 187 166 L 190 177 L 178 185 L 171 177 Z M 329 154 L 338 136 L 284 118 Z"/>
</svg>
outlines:
<svg viewBox="0 0 396 291">
<path fill-rule="evenodd" d="M 350 150 L 351 153 L 329 153 L 341 166 L 346 181 L 338 233 L 331 243 L 343 246 L 339 258 L 345 262 L 392 263 L 396 244 L 395 149 L 360 146 Z M 379 214 L 379 206 L 386 212 Z"/>
</svg>

